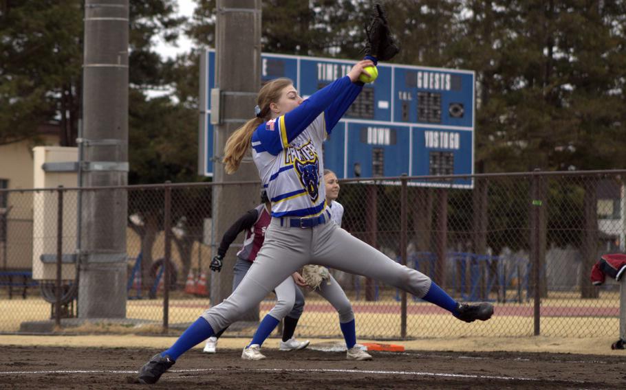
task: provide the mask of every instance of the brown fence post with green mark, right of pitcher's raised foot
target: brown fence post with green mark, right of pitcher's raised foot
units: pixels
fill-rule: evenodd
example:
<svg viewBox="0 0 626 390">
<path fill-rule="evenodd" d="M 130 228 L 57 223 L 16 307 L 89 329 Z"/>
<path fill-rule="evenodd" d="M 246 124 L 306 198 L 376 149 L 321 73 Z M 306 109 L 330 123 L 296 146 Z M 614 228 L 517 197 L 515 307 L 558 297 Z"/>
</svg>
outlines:
<svg viewBox="0 0 626 390">
<path fill-rule="evenodd" d="M 539 336 L 541 333 L 541 239 L 540 239 L 540 213 L 543 201 L 541 200 L 541 176 L 537 174 L 539 168 L 535 169 L 535 174 L 531 176 L 530 183 L 530 263 L 532 264 L 532 284 L 533 284 L 533 297 L 534 297 L 534 323 L 535 323 L 535 336 Z"/>
</svg>

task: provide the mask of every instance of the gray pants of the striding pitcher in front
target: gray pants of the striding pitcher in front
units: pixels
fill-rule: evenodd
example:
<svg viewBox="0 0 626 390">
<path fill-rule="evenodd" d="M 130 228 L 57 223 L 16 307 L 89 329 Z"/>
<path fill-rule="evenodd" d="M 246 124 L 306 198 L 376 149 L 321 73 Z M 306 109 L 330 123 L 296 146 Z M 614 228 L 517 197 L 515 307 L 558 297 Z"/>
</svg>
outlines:
<svg viewBox="0 0 626 390">
<path fill-rule="evenodd" d="M 257 259 L 233 294 L 202 313 L 214 332 L 237 321 L 305 264 L 371 277 L 420 298 L 431 287 L 426 275 L 394 262 L 332 222 L 301 229 L 283 220 L 281 226 L 281 218 L 272 218 Z"/>
</svg>

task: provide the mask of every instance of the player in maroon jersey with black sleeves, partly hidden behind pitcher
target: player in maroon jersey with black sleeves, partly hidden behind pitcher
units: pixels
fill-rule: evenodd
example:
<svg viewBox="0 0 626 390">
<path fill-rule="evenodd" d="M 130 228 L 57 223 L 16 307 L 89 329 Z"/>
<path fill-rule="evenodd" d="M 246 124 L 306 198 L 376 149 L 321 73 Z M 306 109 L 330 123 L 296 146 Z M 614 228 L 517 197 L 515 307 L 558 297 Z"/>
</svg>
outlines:
<svg viewBox="0 0 626 390">
<path fill-rule="evenodd" d="M 244 239 L 244 245 L 239 252 L 237 252 L 237 261 L 235 262 L 235 267 L 233 271 L 235 271 L 233 275 L 233 291 L 239 286 L 241 280 L 244 279 L 246 273 L 252 266 L 252 263 L 257 258 L 257 253 L 261 246 L 263 246 L 263 240 L 265 240 L 265 232 L 270 225 L 270 220 L 272 217 L 270 216 L 270 212 L 272 211 L 272 203 L 268 199 L 268 195 L 265 190 L 261 191 L 261 204 L 255 207 L 254 209 L 249 210 L 241 216 L 227 231 L 224 233 L 222 237 L 222 241 L 219 242 L 219 248 L 217 248 L 217 255 L 213 257 L 211 261 L 211 271 L 222 271 L 224 256 L 226 255 L 226 251 L 230 247 L 230 244 L 233 244 L 233 241 L 237 238 L 239 233 L 242 231 L 246 232 L 246 238 Z M 299 273 L 294 273 L 292 275 L 293 279 L 301 280 L 302 277 Z M 304 308 L 304 295 L 300 288 L 296 287 L 292 277 L 288 277 L 283 281 L 279 286 L 274 288 L 274 292 L 276 293 L 276 305 L 270 312 L 267 314 L 273 318 L 285 319 L 283 326 L 283 338 L 280 342 L 279 349 L 281 351 L 294 351 L 298 349 L 306 348 L 309 345 L 309 341 L 297 341 L 293 338 L 294 330 L 296 329 L 296 325 L 298 324 L 298 320 L 302 315 L 302 310 Z M 217 339 L 226 331 L 228 328 L 224 328 L 215 334 L 214 336 L 209 337 L 206 340 L 206 345 L 204 345 L 203 352 L 207 354 L 215 354 L 217 351 Z M 246 354 L 244 351 L 243 358 L 248 360 L 260 360 L 261 358 L 265 358 L 265 356 L 261 355 L 257 349 L 251 349 Z"/>
</svg>

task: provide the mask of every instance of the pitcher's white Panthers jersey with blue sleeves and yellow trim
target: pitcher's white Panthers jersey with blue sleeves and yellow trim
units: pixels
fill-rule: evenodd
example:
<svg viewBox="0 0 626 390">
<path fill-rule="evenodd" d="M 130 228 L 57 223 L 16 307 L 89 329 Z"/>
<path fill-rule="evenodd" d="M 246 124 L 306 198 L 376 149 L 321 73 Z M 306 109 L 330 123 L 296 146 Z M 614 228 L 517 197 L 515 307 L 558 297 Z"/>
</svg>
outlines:
<svg viewBox="0 0 626 390">
<path fill-rule="evenodd" d="M 345 76 L 252 135 L 252 158 L 272 202 L 272 216 L 312 217 L 325 208 L 322 144 L 362 84 Z"/>
</svg>

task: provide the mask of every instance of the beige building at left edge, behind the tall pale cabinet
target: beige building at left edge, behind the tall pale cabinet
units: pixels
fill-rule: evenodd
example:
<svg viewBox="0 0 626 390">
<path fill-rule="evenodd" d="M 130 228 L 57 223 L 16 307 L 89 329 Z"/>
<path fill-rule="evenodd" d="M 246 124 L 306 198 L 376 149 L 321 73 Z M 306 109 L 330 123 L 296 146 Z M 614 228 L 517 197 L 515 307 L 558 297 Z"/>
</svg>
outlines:
<svg viewBox="0 0 626 390">
<path fill-rule="evenodd" d="M 0 145 L 0 189 L 33 187 L 33 153 L 36 145 L 57 146 L 55 125 L 39 127 L 39 139 Z M 32 192 L 0 192 L 0 270 L 32 267 Z"/>
</svg>

